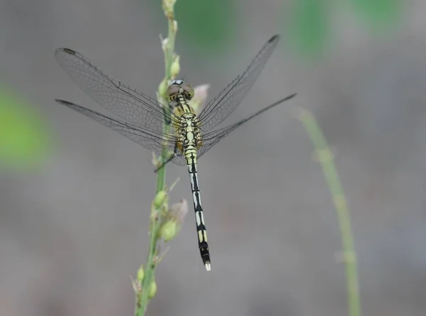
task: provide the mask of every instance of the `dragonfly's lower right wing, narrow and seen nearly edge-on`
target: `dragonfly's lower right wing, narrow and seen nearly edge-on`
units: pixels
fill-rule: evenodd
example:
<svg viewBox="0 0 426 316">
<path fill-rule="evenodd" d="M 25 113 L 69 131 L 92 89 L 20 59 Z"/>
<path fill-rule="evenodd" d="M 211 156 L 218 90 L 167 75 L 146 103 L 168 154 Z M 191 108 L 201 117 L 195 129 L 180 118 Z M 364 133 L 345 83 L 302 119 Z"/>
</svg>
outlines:
<svg viewBox="0 0 426 316">
<path fill-rule="evenodd" d="M 198 150 L 198 157 L 201 157 L 204 155 L 204 153 L 207 153 L 209 149 L 211 149 L 214 145 L 219 143 L 225 136 L 227 136 L 231 131 L 234 131 L 237 127 L 243 125 L 247 121 L 250 121 L 254 117 L 258 116 L 259 114 L 262 114 L 264 111 L 268 111 L 268 109 L 272 109 L 273 107 L 276 107 L 278 104 L 281 104 L 285 101 L 288 101 L 290 99 L 293 99 L 296 94 L 290 94 L 288 97 L 285 97 L 284 99 L 280 99 L 277 102 L 274 102 L 271 105 L 268 105 L 268 107 L 264 107 L 263 109 L 251 114 L 250 116 L 247 116 L 244 119 L 241 119 L 241 121 L 237 121 L 234 124 L 231 124 L 229 126 L 224 127 L 223 129 L 219 129 L 217 131 L 211 131 L 207 134 L 202 135 L 202 147 Z"/>
</svg>

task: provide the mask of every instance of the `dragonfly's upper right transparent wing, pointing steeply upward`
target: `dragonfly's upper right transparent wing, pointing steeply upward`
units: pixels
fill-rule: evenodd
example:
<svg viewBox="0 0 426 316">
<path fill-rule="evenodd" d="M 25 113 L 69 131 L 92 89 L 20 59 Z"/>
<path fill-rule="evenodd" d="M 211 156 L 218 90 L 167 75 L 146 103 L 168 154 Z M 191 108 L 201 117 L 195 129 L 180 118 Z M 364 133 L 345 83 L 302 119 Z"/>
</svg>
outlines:
<svg viewBox="0 0 426 316">
<path fill-rule="evenodd" d="M 225 89 L 217 94 L 200 113 L 202 131 L 210 131 L 228 117 L 243 101 L 266 62 L 275 49 L 279 36 L 275 35 L 263 45 L 246 71 L 236 77 Z"/>
</svg>

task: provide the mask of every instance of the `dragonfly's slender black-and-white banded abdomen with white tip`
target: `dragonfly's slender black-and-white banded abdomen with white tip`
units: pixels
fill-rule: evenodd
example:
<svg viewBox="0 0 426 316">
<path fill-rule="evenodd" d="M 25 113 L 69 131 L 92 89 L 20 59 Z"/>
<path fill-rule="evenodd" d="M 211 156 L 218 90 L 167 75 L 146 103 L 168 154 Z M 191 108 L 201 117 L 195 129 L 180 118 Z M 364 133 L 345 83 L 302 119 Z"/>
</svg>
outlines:
<svg viewBox="0 0 426 316">
<path fill-rule="evenodd" d="M 207 244 L 207 231 L 204 224 L 204 216 L 201 205 L 200 187 L 198 185 L 197 164 L 192 162 L 188 164 L 190 173 L 192 201 L 194 202 L 195 222 L 197 224 L 198 248 L 202 258 L 202 263 L 207 271 L 210 271 L 209 245 Z"/>
</svg>

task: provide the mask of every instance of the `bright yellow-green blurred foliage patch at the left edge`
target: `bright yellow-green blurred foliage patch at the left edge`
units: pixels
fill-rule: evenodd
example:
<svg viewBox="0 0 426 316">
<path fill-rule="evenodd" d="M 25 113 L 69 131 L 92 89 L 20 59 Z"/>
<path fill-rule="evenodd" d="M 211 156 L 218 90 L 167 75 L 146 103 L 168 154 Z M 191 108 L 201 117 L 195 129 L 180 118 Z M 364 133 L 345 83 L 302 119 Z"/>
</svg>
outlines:
<svg viewBox="0 0 426 316">
<path fill-rule="evenodd" d="M 0 88 L 0 167 L 39 166 L 50 148 L 45 126 L 29 104 Z"/>
</svg>

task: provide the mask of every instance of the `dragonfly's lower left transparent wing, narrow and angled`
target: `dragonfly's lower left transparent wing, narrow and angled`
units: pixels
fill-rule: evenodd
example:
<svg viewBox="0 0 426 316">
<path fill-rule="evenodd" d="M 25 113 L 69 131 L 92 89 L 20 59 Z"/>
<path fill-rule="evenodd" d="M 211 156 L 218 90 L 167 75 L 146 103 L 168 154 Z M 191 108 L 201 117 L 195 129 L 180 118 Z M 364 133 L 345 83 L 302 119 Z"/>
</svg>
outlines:
<svg viewBox="0 0 426 316">
<path fill-rule="evenodd" d="M 178 141 L 178 138 L 173 134 L 163 134 L 163 132 L 159 133 L 157 131 L 144 129 L 143 126 L 136 126 L 134 124 L 130 124 L 124 121 L 119 121 L 116 119 L 112 119 L 111 117 L 100 114 L 97 111 L 92 111 L 85 107 L 82 107 L 78 104 L 68 102 L 65 100 L 55 100 L 59 104 L 65 105 L 70 109 L 73 109 L 85 116 L 88 116 L 94 121 L 98 121 L 104 126 L 108 126 L 114 131 L 118 131 L 121 135 L 126 136 L 131 141 L 138 143 L 144 148 L 150 149 L 151 151 L 155 151 L 158 155 L 163 151 L 163 146 L 167 148 L 170 153 L 173 153 L 175 150 L 175 143 Z M 177 165 L 185 165 L 185 158 L 183 156 L 175 156 L 171 161 Z"/>
</svg>

